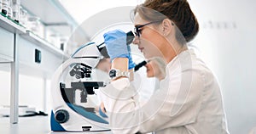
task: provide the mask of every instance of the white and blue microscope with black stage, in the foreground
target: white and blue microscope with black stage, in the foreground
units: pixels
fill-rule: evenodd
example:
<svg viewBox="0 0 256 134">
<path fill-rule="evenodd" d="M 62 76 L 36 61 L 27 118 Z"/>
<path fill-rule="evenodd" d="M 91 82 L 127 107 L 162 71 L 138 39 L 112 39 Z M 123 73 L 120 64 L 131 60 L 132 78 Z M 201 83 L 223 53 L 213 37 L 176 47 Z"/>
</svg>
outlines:
<svg viewBox="0 0 256 134">
<path fill-rule="evenodd" d="M 127 45 L 134 35 L 127 34 Z M 94 42 L 79 47 L 70 59 L 55 70 L 51 81 L 52 111 L 50 117 L 51 131 L 110 131 L 108 118 L 96 114 L 94 108 L 85 107 L 76 102 L 76 91 L 80 92 L 79 103 L 88 103 L 95 90 L 105 87 L 104 81 L 91 80 L 92 70 L 100 59 L 109 58 L 102 42 Z M 68 78 L 68 79 L 67 79 Z"/>
</svg>

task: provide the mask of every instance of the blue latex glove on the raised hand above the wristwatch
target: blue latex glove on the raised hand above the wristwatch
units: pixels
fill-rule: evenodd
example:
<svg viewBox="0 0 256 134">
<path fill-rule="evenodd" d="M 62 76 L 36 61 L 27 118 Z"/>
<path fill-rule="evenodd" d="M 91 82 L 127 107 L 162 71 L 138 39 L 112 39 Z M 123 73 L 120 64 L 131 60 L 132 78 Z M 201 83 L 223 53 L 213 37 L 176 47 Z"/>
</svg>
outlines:
<svg viewBox="0 0 256 134">
<path fill-rule="evenodd" d="M 124 31 L 108 31 L 103 36 L 111 62 L 115 58 L 129 58 Z"/>
</svg>

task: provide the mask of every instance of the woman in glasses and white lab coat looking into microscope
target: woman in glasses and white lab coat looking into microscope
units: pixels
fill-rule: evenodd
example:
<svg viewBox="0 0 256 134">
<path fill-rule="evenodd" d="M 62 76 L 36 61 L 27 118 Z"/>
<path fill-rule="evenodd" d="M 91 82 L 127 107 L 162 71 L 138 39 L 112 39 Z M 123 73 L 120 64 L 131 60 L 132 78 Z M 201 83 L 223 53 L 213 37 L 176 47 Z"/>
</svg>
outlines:
<svg viewBox="0 0 256 134">
<path fill-rule="evenodd" d="M 186 45 L 199 30 L 189 3 L 146 0 L 134 10 L 134 25 L 133 43 L 146 59 L 161 57 L 166 61 L 166 77 L 141 106 L 129 81 L 128 70 L 133 65 L 125 32 L 104 34 L 113 81 L 101 92 L 113 133 L 229 133 L 218 81 Z"/>
</svg>

